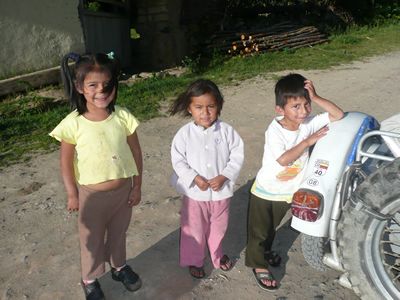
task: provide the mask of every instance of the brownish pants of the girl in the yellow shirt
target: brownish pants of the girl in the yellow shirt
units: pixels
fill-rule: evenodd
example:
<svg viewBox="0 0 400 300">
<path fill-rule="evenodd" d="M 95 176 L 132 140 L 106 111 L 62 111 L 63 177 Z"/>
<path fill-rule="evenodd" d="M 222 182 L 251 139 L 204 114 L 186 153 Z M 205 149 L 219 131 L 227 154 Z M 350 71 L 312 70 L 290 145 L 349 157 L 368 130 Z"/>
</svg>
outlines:
<svg viewBox="0 0 400 300">
<path fill-rule="evenodd" d="M 81 246 L 82 279 L 93 280 L 112 267 L 126 262 L 126 231 L 132 216 L 128 197 L 132 182 L 118 189 L 99 192 L 79 187 L 78 230 Z"/>
</svg>

